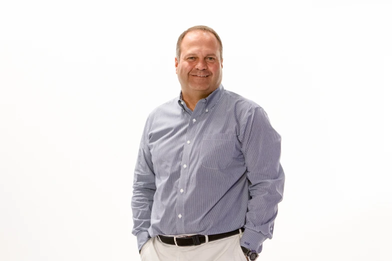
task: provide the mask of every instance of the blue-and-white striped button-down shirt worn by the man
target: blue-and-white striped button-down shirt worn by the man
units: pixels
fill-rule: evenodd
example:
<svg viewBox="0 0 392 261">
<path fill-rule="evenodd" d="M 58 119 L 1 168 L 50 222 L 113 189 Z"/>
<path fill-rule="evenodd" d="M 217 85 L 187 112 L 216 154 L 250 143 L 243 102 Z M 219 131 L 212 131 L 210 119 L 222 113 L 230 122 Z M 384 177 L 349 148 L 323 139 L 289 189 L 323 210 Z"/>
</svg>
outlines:
<svg viewBox="0 0 392 261">
<path fill-rule="evenodd" d="M 280 135 L 255 102 L 222 84 L 190 110 L 180 95 L 147 118 L 134 174 L 138 248 L 158 234 L 217 234 L 245 227 L 261 252 L 282 200 Z"/>
</svg>

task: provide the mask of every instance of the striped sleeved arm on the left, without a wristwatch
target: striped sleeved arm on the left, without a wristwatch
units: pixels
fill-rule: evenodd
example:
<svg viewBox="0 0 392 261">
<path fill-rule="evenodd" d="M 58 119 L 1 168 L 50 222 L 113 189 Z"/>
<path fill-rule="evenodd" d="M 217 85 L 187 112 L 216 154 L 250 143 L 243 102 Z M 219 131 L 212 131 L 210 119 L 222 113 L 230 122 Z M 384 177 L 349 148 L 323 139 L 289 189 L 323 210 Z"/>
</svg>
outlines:
<svg viewBox="0 0 392 261">
<path fill-rule="evenodd" d="M 151 117 L 149 116 L 140 141 L 131 203 L 134 222 L 132 233 L 137 236 L 139 251 L 151 238 L 147 229 L 150 227 L 151 209 L 156 190 L 153 163 L 148 147 L 150 125 Z"/>
</svg>

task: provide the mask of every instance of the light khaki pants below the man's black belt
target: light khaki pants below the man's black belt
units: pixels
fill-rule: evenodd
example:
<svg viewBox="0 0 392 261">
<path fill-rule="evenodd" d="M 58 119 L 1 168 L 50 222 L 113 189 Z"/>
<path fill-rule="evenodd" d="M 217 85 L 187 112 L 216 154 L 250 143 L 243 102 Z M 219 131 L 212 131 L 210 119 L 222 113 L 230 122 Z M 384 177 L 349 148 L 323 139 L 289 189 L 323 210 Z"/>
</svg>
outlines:
<svg viewBox="0 0 392 261">
<path fill-rule="evenodd" d="M 149 239 L 142 247 L 142 261 L 246 261 L 239 240 L 241 234 L 192 246 L 162 243 L 158 236 Z"/>
</svg>

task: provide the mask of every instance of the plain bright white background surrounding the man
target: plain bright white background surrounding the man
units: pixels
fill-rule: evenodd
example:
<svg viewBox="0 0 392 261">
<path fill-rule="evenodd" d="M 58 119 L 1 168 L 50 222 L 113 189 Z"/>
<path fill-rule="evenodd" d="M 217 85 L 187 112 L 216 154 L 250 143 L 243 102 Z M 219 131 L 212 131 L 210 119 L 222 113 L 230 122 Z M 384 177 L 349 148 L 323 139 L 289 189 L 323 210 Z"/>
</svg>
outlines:
<svg viewBox="0 0 392 261">
<path fill-rule="evenodd" d="M 0 260 L 138 260 L 141 132 L 179 94 L 175 44 L 199 24 L 223 41 L 224 87 L 282 136 L 260 260 L 391 260 L 391 13 L 386 0 L 2 1 Z"/>
</svg>

